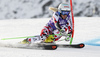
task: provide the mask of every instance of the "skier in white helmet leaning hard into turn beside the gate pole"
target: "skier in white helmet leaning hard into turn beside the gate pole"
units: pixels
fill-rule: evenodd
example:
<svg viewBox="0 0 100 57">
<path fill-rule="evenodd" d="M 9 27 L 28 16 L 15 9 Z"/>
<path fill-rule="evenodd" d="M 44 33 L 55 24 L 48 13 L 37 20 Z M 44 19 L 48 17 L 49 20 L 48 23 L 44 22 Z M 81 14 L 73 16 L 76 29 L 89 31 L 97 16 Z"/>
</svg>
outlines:
<svg viewBox="0 0 100 57">
<path fill-rule="evenodd" d="M 68 31 L 68 34 L 72 34 L 69 4 L 61 3 L 58 9 L 50 9 L 54 11 L 53 17 L 41 30 L 40 36 L 27 38 L 22 43 L 34 43 L 39 40 L 52 43 L 59 40 L 66 31 Z"/>
</svg>

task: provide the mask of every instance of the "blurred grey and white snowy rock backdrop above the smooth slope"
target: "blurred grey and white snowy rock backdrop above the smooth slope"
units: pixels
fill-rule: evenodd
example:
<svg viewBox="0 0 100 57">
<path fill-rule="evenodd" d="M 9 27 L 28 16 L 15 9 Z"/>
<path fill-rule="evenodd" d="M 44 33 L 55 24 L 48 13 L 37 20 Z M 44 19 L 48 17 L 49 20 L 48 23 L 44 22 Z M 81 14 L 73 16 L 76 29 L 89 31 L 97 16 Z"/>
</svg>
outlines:
<svg viewBox="0 0 100 57">
<path fill-rule="evenodd" d="M 0 19 L 50 18 L 64 0 L 0 0 Z M 99 17 L 100 0 L 73 0 L 75 17 Z"/>
</svg>

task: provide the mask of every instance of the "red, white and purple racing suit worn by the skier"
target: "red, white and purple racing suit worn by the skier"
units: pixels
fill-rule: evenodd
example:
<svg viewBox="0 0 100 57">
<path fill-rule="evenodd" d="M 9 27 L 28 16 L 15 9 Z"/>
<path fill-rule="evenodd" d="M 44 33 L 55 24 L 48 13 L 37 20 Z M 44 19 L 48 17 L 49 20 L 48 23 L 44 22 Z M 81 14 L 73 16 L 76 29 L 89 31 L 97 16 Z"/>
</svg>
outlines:
<svg viewBox="0 0 100 57">
<path fill-rule="evenodd" d="M 40 37 L 28 38 L 28 41 L 34 42 L 43 40 L 44 42 L 54 42 L 59 40 L 62 35 L 60 35 L 60 30 L 71 32 L 71 22 L 70 15 L 66 19 L 62 19 L 58 12 L 53 13 L 53 17 L 41 30 Z"/>
</svg>

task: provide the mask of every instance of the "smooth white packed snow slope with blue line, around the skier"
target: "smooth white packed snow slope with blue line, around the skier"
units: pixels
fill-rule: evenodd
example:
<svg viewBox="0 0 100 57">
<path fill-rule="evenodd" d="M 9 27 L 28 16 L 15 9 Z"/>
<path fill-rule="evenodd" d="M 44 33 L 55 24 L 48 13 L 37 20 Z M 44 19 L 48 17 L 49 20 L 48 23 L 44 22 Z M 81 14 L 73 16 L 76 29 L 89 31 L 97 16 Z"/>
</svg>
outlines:
<svg viewBox="0 0 100 57">
<path fill-rule="evenodd" d="M 0 20 L 0 39 L 39 35 L 41 29 L 49 20 L 50 18 Z M 99 24 L 99 17 L 75 18 L 73 44 L 85 43 L 85 48 L 36 50 L 0 47 L 0 57 L 100 57 Z M 16 43 L 22 40 L 0 40 L 0 43 Z"/>
</svg>

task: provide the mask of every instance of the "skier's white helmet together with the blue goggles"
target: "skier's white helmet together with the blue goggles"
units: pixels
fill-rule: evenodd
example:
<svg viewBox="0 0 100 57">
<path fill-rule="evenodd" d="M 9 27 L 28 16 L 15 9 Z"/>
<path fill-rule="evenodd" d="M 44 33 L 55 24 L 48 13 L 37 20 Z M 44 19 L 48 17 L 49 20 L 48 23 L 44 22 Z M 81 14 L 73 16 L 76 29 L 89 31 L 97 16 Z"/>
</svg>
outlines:
<svg viewBox="0 0 100 57">
<path fill-rule="evenodd" d="M 68 3 L 61 3 L 59 6 L 58 6 L 58 13 L 59 15 L 62 14 L 62 15 L 69 15 L 70 13 L 70 6 Z"/>
</svg>

